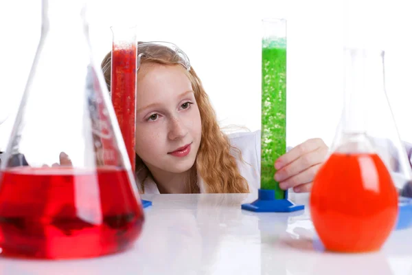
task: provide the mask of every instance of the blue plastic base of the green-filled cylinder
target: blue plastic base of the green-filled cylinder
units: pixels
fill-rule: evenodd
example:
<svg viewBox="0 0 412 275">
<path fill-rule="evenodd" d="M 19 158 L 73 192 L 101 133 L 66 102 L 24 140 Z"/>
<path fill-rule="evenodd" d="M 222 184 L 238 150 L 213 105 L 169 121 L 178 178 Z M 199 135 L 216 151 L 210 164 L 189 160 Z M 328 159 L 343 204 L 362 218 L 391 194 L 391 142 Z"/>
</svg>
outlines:
<svg viewBox="0 0 412 275">
<path fill-rule="evenodd" d="M 294 212 L 304 208 L 288 200 L 288 191 L 285 191 L 285 199 L 275 199 L 275 190 L 264 189 L 259 189 L 258 199 L 253 203 L 242 204 L 242 209 L 253 212 Z"/>
</svg>

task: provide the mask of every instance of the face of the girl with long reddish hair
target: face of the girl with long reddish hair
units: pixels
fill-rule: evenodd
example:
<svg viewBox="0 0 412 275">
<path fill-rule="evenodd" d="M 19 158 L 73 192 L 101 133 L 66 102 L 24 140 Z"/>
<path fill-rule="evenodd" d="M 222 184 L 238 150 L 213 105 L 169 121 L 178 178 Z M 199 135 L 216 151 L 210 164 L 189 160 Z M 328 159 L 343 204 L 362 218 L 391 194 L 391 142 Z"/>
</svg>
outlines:
<svg viewBox="0 0 412 275">
<path fill-rule="evenodd" d="M 202 135 L 192 83 L 181 65 L 139 70 L 136 153 L 152 173 L 185 172 L 194 164 Z"/>
</svg>

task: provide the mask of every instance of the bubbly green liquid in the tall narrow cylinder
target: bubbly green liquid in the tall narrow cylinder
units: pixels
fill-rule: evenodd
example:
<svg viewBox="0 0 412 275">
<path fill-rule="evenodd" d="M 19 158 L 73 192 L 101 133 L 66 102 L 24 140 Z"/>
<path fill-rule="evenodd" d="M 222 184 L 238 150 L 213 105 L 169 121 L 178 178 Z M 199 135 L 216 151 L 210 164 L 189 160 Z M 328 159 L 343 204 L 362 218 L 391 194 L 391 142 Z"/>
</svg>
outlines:
<svg viewBox="0 0 412 275">
<path fill-rule="evenodd" d="M 276 159 L 286 153 L 286 41 L 263 41 L 261 150 L 260 188 L 284 199 L 273 176 Z"/>
</svg>

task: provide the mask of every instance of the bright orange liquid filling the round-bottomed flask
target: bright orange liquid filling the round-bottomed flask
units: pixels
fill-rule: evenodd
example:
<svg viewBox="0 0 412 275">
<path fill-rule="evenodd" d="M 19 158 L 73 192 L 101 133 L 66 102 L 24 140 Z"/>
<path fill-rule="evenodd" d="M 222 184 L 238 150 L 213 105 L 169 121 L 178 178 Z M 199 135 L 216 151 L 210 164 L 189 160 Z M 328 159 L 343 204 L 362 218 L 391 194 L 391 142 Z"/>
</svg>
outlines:
<svg viewBox="0 0 412 275">
<path fill-rule="evenodd" d="M 334 153 L 314 178 L 314 228 L 334 252 L 379 250 L 398 217 L 398 193 L 376 154 Z"/>
</svg>

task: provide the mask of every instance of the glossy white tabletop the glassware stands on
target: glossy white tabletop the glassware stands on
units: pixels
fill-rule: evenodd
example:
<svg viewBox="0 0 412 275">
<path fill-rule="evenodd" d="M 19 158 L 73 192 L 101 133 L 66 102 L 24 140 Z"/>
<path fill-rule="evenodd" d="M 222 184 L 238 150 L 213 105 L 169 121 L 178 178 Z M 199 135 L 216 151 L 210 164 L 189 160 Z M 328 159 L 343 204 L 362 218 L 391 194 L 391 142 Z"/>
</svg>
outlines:
<svg viewBox="0 0 412 275">
<path fill-rule="evenodd" d="M 394 231 L 380 252 L 323 252 L 308 208 L 253 213 L 253 195 L 144 195 L 153 202 L 133 250 L 97 259 L 0 259 L 0 274 L 412 274 L 412 230 Z M 308 195 L 292 194 L 297 203 Z"/>
</svg>

